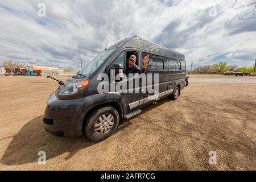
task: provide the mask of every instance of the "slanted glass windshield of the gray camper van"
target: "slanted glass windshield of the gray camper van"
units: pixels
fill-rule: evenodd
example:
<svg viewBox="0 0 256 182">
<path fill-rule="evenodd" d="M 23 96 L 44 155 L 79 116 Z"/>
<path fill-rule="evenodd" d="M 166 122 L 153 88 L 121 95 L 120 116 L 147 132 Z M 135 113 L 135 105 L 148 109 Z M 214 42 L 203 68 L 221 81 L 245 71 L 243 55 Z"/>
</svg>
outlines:
<svg viewBox="0 0 256 182">
<path fill-rule="evenodd" d="M 112 53 L 117 50 L 115 49 L 109 49 L 107 51 L 101 52 L 98 56 L 96 56 L 92 61 L 90 61 L 88 64 L 84 66 L 84 68 L 79 72 L 80 75 L 89 76 L 94 71 L 96 71 L 97 68 L 101 66 L 102 63 L 110 56 Z"/>
</svg>

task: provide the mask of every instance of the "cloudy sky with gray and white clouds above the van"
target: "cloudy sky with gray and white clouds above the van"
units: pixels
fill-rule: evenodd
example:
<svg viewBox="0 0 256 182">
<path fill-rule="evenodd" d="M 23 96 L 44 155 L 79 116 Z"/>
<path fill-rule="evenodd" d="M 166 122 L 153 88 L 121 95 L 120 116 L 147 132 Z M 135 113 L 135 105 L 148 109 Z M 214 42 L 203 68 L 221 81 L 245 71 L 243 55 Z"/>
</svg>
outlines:
<svg viewBox="0 0 256 182">
<path fill-rule="evenodd" d="M 253 65 L 256 18 L 240 20 L 246 9 L 232 9 L 232 0 L 221 2 L 1 0 L 0 64 L 14 60 L 78 71 L 80 60 L 93 59 L 112 32 L 110 45 L 138 35 L 184 53 L 189 65 Z M 46 16 L 39 16 L 39 3 L 46 5 Z"/>
</svg>

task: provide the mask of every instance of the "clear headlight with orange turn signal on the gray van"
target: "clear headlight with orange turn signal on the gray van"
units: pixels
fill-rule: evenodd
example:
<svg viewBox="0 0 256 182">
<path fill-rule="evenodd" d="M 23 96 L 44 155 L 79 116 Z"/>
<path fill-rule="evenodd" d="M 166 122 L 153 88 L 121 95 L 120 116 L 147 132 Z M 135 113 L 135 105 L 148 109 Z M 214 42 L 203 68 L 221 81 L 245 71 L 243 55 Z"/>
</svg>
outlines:
<svg viewBox="0 0 256 182">
<path fill-rule="evenodd" d="M 69 96 L 83 90 L 89 84 L 89 80 L 84 80 L 76 83 L 69 83 L 65 86 L 60 86 L 59 96 Z"/>
</svg>

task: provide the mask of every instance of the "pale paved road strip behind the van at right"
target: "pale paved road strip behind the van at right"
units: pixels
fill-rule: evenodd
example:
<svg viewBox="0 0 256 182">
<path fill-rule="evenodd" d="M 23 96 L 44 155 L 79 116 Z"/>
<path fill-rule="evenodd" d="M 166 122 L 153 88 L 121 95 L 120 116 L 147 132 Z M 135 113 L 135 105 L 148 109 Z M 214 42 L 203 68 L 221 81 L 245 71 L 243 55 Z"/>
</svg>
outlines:
<svg viewBox="0 0 256 182">
<path fill-rule="evenodd" d="M 193 77 L 189 82 L 256 84 L 256 77 Z"/>
</svg>

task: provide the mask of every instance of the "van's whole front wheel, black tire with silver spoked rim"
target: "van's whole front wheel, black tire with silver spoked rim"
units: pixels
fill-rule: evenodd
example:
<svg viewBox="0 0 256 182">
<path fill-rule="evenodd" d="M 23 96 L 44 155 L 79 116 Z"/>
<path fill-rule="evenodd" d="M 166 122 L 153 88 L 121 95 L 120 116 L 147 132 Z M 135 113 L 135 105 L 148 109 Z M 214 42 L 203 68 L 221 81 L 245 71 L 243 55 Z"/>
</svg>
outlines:
<svg viewBox="0 0 256 182">
<path fill-rule="evenodd" d="M 109 138 L 119 124 L 119 114 L 112 106 L 102 106 L 90 113 L 84 131 L 92 142 L 101 142 Z"/>
</svg>

